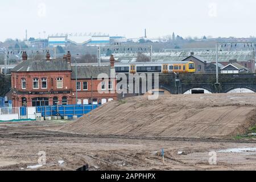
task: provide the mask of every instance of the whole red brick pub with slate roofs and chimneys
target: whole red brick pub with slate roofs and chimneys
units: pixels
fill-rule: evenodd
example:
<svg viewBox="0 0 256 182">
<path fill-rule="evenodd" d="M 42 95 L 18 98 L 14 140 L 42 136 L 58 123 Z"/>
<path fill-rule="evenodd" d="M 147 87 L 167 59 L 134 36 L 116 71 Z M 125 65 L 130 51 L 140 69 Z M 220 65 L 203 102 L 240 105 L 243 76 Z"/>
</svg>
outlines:
<svg viewBox="0 0 256 182">
<path fill-rule="evenodd" d="M 50 59 L 47 52 L 44 60 L 27 60 L 26 52 L 22 55 L 23 62 L 11 73 L 11 91 L 13 107 L 48 106 L 76 104 L 105 104 L 117 100 L 115 92 L 116 80 L 110 79 L 114 71 L 114 57 L 110 66 L 77 67 L 71 66 L 71 54 L 68 52 L 63 59 Z M 109 76 L 108 80 L 97 80 L 100 73 Z M 105 93 L 99 93 L 98 89 Z"/>
</svg>

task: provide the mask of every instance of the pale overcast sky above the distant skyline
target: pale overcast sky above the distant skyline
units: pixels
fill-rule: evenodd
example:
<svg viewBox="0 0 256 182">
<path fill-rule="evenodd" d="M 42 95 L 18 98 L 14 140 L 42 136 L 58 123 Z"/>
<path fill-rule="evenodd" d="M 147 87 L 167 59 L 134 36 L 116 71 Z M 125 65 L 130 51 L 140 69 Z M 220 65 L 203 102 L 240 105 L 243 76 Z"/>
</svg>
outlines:
<svg viewBox="0 0 256 182">
<path fill-rule="evenodd" d="M 0 41 L 65 32 L 149 37 L 255 35 L 254 0 L 9 0 L 1 1 Z"/>
</svg>

